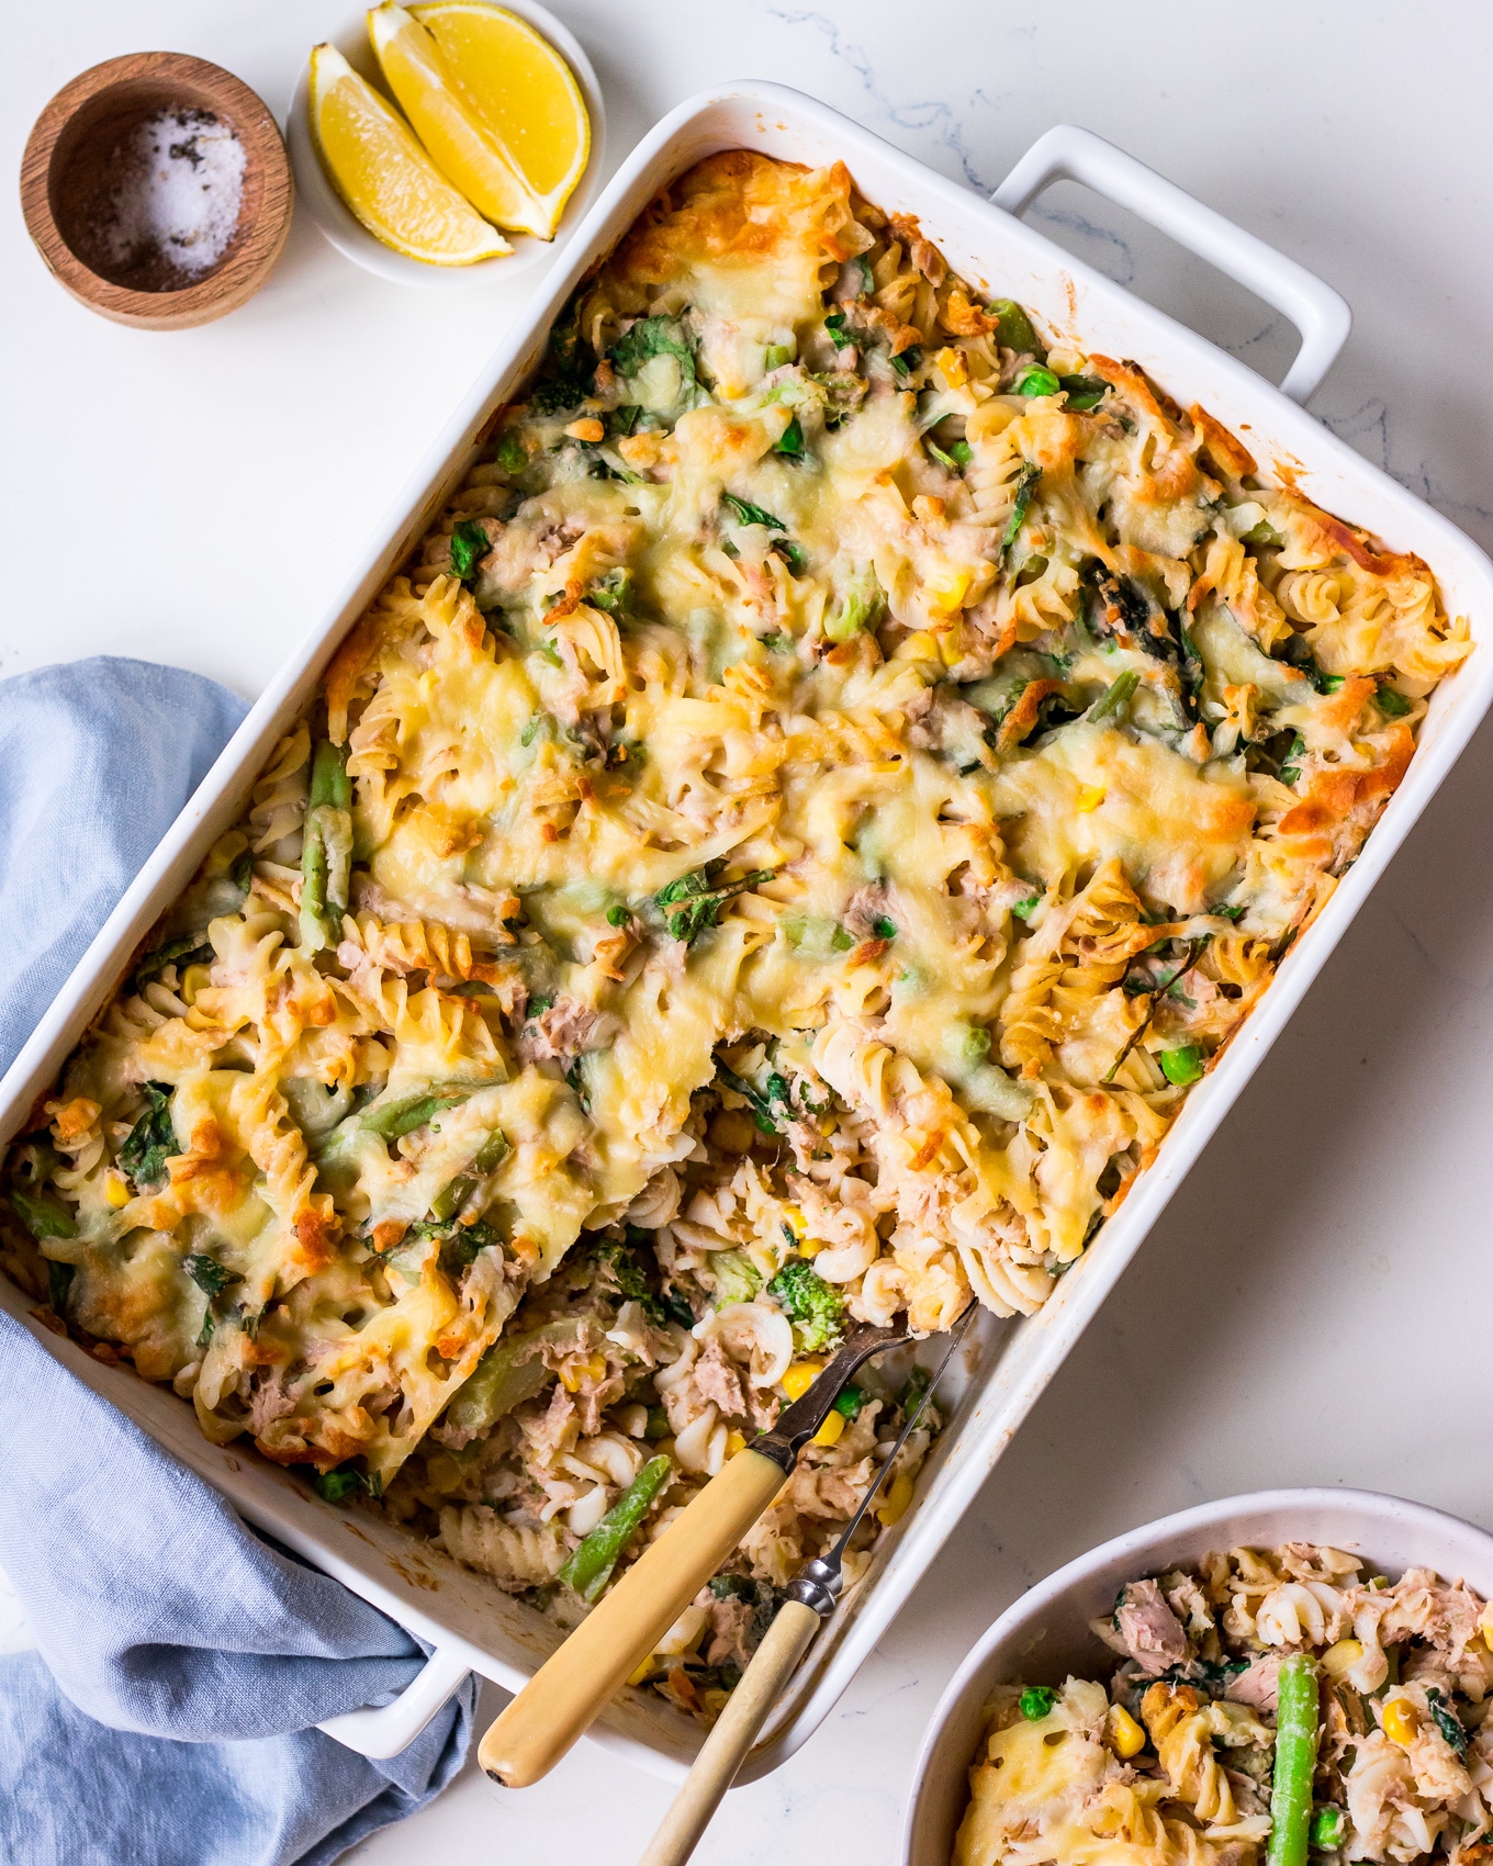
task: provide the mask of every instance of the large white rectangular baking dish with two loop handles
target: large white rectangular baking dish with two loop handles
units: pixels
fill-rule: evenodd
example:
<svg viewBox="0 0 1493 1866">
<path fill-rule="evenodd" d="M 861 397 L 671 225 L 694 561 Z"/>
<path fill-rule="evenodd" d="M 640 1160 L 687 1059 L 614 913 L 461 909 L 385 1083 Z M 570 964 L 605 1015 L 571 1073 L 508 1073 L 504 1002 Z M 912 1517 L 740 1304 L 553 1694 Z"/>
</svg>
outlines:
<svg viewBox="0 0 1493 1866">
<path fill-rule="evenodd" d="M 278 735 L 310 698 L 321 670 L 368 599 L 426 530 L 429 515 L 467 472 L 487 416 L 537 360 L 556 310 L 653 194 L 702 157 L 752 147 L 814 166 L 844 160 L 862 192 L 888 211 L 913 213 L 950 263 L 993 295 L 1028 304 L 1054 330 L 1092 351 L 1137 360 L 1183 405 L 1202 401 L 1235 429 L 1262 466 L 1284 468 L 1329 511 L 1416 550 L 1441 580 L 1446 608 L 1465 614 L 1480 648 L 1435 694 L 1409 774 L 1364 855 L 1318 924 L 1286 957 L 1263 1004 L 1187 1103 L 1157 1163 L 1140 1176 L 1094 1250 L 1034 1317 L 985 1321 L 965 1349 L 957 1407 L 922 1495 L 883 1541 L 866 1584 L 836 1614 L 778 1707 L 741 1780 L 784 1762 L 821 1722 L 916 1586 L 989 1476 L 1053 1372 L 1071 1349 L 1157 1213 L 1196 1161 L 1260 1058 L 1280 1034 L 1318 968 L 1364 901 L 1394 849 L 1424 810 L 1493 700 L 1493 565 L 1452 524 L 1318 425 L 1297 401 L 1319 383 L 1347 336 L 1347 306 L 1331 287 L 1252 235 L 1181 194 L 1131 157 L 1084 131 L 1056 129 L 1017 164 L 995 203 L 946 181 L 847 118 L 774 84 L 732 84 L 681 104 L 644 138 L 577 231 L 532 313 L 498 345 L 463 407 L 418 468 L 332 612 L 271 685 L 198 795 L 146 864 L 86 954 L 35 1036 L 0 1082 L 0 1142 L 17 1131 L 119 980 L 136 942 L 185 886 L 207 845 L 239 814 L 246 787 Z M 1142 304 L 1023 226 L 1021 209 L 1064 175 L 1123 202 L 1286 312 L 1303 332 L 1282 390 L 1170 317 Z M 998 205 L 997 205 L 998 203 Z M 254 1525 L 276 1536 L 435 1648 L 414 1685 L 392 1706 L 355 1711 L 328 1726 L 370 1756 L 396 1754 L 455 1689 L 467 1670 L 517 1689 L 556 1642 L 530 1608 L 394 1525 L 336 1510 L 252 1448 L 211 1446 L 190 1407 L 127 1370 L 106 1368 L 47 1334 L 30 1304 L 0 1280 L 0 1301 L 26 1319 L 69 1368 L 106 1394 L 192 1470 L 216 1485 Z M 623 1692 L 595 1741 L 666 1778 L 677 1778 L 702 1732 L 657 1696 Z"/>
</svg>

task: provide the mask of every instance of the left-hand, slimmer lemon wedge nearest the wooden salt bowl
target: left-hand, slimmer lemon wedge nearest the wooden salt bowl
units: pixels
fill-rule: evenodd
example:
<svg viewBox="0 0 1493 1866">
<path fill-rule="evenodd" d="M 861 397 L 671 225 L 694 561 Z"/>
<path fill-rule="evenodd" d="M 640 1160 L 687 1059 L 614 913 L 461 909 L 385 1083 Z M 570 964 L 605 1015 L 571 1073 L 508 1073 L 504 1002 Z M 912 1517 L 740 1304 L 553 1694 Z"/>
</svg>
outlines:
<svg viewBox="0 0 1493 1866">
<path fill-rule="evenodd" d="M 513 252 L 334 45 L 312 50 L 310 118 L 332 187 L 384 246 L 429 265 Z"/>
</svg>

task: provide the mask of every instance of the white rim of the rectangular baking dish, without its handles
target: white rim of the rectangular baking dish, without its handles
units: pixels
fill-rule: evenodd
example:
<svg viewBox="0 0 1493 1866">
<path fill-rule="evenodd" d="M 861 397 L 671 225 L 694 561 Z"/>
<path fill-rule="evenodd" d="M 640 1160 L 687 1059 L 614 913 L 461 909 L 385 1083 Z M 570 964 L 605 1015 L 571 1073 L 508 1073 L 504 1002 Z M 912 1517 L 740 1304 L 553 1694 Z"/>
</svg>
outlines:
<svg viewBox="0 0 1493 1866">
<path fill-rule="evenodd" d="M 758 147 L 765 153 L 784 153 L 780 147 L 784 140 L 797 147 L 799 157 L 804 157 L 808 149 L 819 149 L 825 155 L 832 151 L 858 175 L 868 172 L 883 175 L 885 181 L 870 187 L 868 194 L 879 196 L 881 203 L 888 207 L 896 196 L 898 205 L 920 211 L 926 220 L 933 222 L 933 233 L 939 239 L 950 237 L 942 231 L 941 222 L 952 220 L 961 226 L 967 239 L 961 235 L 956 244 L 982 244 L 984 263 L 995 265 L 1002 282 L 1010 280 L 1012 293 L 1026 295 L 1026 302 L 1032 302 L 1041 315 L 1047 313 L 1041 310 L 1040 293 L 1056 291 L 1058 282 L 1062 282 L 1075 306 L 1084 300 L 1103 312 L 1110 327 L 1133 327 L 1138 341 L 1137 355 L 1161 353 L 1170 368 L 1170 379 L 1178 386 L 1187 377 L 1204 377 L 1209 388 L 1217 388 L 1217 394 L 1202 396 L 1200 392 L 1202 399 L 1209 399 L 1213 405 L 1222 403 L 1226 409 L 1243 405 L 1252 416 L 1258 414 L 1258 424 L 1241 425 L 1260 425 L 1277 437 L 1277 459 L 1282 455 L 1293 459 L 1308 491 L 1314 491 L 1314 480 L 1327 480 L 1333 485 L 1344 481 L 1353 489 L 1353 500 L 1366 508 L 1362 511 L 1364 522 L 1374 511 L 1388 509 L 1392 517 L 1403 521 L 1403 530 L 1411 534 L 1415 547 L 1422 549 L 1435 564 L 1443 586 L 1454 582 L 1458 590 L 1476 592 L 1480 627 L 1474 629 L 1474 636 L 1487 646 L 1489 636 L 1480 629 L 1493 627 L 1493 565 L 1484 552 L 1450 521 L 1353 453 L 1346 442 L 1316 424 L 1245 364 L 1166 313 L 1135 299 L 1092 267 L 1075 261 L 1045 235 L 1026 228 L 1000 207 L 894 149 L 875 132 L 827 104 L 802 97 L 786 86 L 761 80 L 717 86 L 679 104 L 642 138 L 577 230 L 569 250 L 552 269 L 528 313 L 519 317 L 495 347 L 472 390 L 437 437 L 399 498 L 381 519 L 360 565 L 300 649 L 269 683 L 0 1082 L 0 1140 L 24 1120 L 37 1092 L 50 1086 L 78 1034 L 116 987 L 136 942 L 147 933 L 164 905 L 185 886 L 211 840 L 235 819 L 237 801 L 271 754 L 278 733 L 304 703 L 345 631 L 386 580 L 390 569 L 403 560 L 426 530 L 429 515 L 439 509 L 461 472 L 467 470 L 483 422 L 500 405 L 508 386 L 517 383 L 537 360 L 554 312 L 564 304 L 586 267 L 621 237 L 646 202 L 664 185 L 664 179 L 681 174 L 713 149 Z M 965 261 L 956 259 L 954 263 L 956 269 L 978 272 Z M 1023 265 L 1032 267 L 1032 287 L 1017 285 Z M 1038 287 L 1040 293 L 1034 297 Z M 1077 310 L 1073 317 L 1079 319 Z M 1103 332 L 1097 334 L 1103 336 Z M 1165 369 L 1163 375 L 1166 375 Z M 1342 504 L 1344 494 L 1342 491 L 1318 491 L 1318 496 L 1323 502 L 1331 498 L 1334 504 Z M 1359 513 L 1353 517 L 1359 519 Z M 1403 543 L 1403 539 L 1400 541 Z M 1452 565 L 1456 565 L 1456 575 L 1452 575 Z M 937 1469 L 926 1480 L 918 1506 L 907 1513 L 894 1536 L 885 1538 L 879 1545 L 872 1577 L 847 1601 L 810 1653 L 739 1780 L 765 1775 L 817 1728 L 907 1594 L 916 1586 L 933 1554 L 942 1547 L 963 1510 L 1002 1455 L 1026 1411 L 1101 1306 L 1151 1222 L 1241 1093 L 1263 1052 L 1290 1021 L 1312 978 L 1487 711 L 1489 702 L 1493 702 L 1493 655 L 1472 657 L 1471 666 L 1443 685 L 1443 692 L 1448 689 L 1454 689 L 1450 698 L 1439 709 L 1433 707 L 1431 713 L 1431 720 L 1437 724 L 1428 722 L 1424 728 L 1416 758 L 1359 862 L 1340 883 L 1308 937 L 1288 954 L 1262 1006 L 1241 1028 L 1219 1067 L 1189 1097 L 1155 1164 L 1140 1176 L 1122 1211 L 1105 1226 L 1103 1248 L 1086 1254 L 1079 1269 L 1062 1280 L 1058 1291 L 1034 1317 L 1026 1317 L 1019 1325 L 995 1325 L 991 1321 L 985 1327 L 982 1349 L 976 1349 L 974 1358 L 978 1360 L 982 1351 L 991 1345 L 995 1334 L 1000 1336 L 1000 1353 L 993 1364 L 978 1373 L 978 1392 L 972 1394 L 972 1400 L 961 1401 L 959 1411 L 950 1420 L 929 1461 Z M 82 1358 L 86 1360 L 86 1357 Z M 103 1370 L 93 1366 L 93 1372 Z M 125 1394 L 110 1390 L 110 1398 L 123 1403 Z M 179 1407 L 179 1401 L 172 1400 L 172 1403 Z M 129 1411 L 129 1407 L 125 1409 Z M 136 1411 L 149 1409 L 142 1401 Z M 196 1431 L 194 1424 L 192 1429 Z M 347 1581 L 355 1592 L 375 1599 L 375 1605 L 384 1607 L 420 1636 L 435 1636 L 446 1651 L 470 1653 L 476 1670 L 509 1689 L 526 1676 L 523 1666 L 474 1646 L 448 1625 L 442 1627 L 439 1616 L 427 1610 L 427 1601 L 416 1592 L 416 1586 L 424 1586 L 424 1582 L 401 1582 L 401 1588 L 394 1590 L 379 1579 L 384 1575 L 384 1567 L 373 1558 L 362 1558 L 362 1566 L 356 1560 L 349 1562 L 345 1558 L 347 1545 L 334 1528 L 338 1519 L 345 1521 L 345 1511 L 330 1511 L 330 1506 L 310 1497 L 304 1485 L 293 1485 L 293 1480 L 280 1474 L 284 1483 L 297 1491 L 295 1510 L 291 1510 L 284 1502 L 284 1493 L 276 1493 L 271 1485 L 250 1485 L 248 1470 L 237 1461 L 230 1472 L 222 1461 L 203 1455 L 211 1450 L 215 1448 L 209 1448 L 207 1441 L 200 1441 L 196 1448 L 177 1446 L 177 1455 L 183 1455 L 192 1469 L 224 1489 L 246 1515 L 291 1541 L 297 1553 L 323 1560 L 338 1579 Z M 244 1467 L 250 1463 L 243 1452 L 239 1457 Z M 327 1523 L 306 1511 L 330 1511 L 332 1521 Z M 392 1558 L 388 1560 L 392 1562 Z M 687 1767 L 681 1747 L 672 1745 L 672 1739 L 666 1743 L 663 1737 L 655 1741 L 629 1734 L 638 1730 L 638 1717 L 633 1715 L 636 1707 L 629 1707 L 625 1698 L 627 1694 L 608 1713 L 614 1722 L 625 1728 L 597 1726 L 595 1739 L 621 1748 L 651 1773 L 677 1780 Z M 384 1713 L 353 1713 L 353 1717 L 373 1720 Z M 683 1722 L 683 1719 L 679 1720 Z M 356 1732 L 343 1728 L 336 1734 L 351 1741 L 353 1747 L 366 1747 L 368 1741 L 373 1741 L 366 1726 Z M 698 1735 L 691 1735 L 689 1741 L 696 1743 Z"/>
</svg>

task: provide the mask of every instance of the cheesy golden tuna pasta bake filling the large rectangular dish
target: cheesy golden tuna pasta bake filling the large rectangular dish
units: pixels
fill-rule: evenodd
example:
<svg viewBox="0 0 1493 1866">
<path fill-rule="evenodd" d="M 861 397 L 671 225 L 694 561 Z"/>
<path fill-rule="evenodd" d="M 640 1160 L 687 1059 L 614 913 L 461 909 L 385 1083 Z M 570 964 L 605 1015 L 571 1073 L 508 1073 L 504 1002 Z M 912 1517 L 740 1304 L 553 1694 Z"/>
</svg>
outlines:
<svg viewBox="0 0 1493 1866">
<path fill-rule="evenodd" d="M 1469 648 L 1422 562 L 844 168 L 711 157 L 37 1108 L 7 1261 L 216 1442 L 579 1612 L 847 1317 L 1041 1306 Z M 901 1400 L 845 1398 L 672 1696 L 728 1689 Z"/>
</svg>

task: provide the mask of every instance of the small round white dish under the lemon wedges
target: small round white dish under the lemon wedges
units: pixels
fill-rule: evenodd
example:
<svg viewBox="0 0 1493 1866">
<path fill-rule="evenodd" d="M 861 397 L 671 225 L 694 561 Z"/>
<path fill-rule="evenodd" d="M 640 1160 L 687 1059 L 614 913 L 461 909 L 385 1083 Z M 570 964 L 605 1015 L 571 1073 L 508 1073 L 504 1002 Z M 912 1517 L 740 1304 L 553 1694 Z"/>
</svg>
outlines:
<svg viewBox="0 0 1493 1866">
<path fill-rule="evenodd" d="M 565 202 L 560 226 L 552 241 L 536 239 L 532 233 L 508 233 L 513 252 L 498 259 L 480 259 L 476 265 L 426 265 L 424 259 L 409 259 L 383 241 L 373 239 L 368 228 L 343 205 L 338 190 L 327 179 L 321 157 L 312 142 L 310 86 L 312 60 L 306 49 L 306 63 L 295 82 L 289 116 L 286 119 L 286 142 L 295 164 L 297 192 L 315 220 L 317 228 L 356 265 L 368 272 L 377 272 L 396 285 L 420 285 L 426 291 L 465 291 L 468 285 L 489 285 L 502 280 L 519 278 L 549 261 L 565 246 L 573 230 L 584 220 L 586 209 L 595 200 L 601 187 L 607 157 L 607 106 L 601 101 L 601 86 L 592 71 L 592 62 L 580 49 L 575 34 L 564 26 L 547 7 L 534 0 L 502 0 L 502 11 L 526 19 L 536 32 L 541 32 L 556 52 L 575 73 L 580 95 L 586 99 L 586 112 L 592 119 L 592 153 L 586 172 L 575 185 L 575 194 Z M 330 43 L 370 84 L 388 97 L 388 88 L 379 73 L 379 62 L 368 43 L 368 7 L 358 7 L 351 21 L 330 34 Z"/>
</svg>

